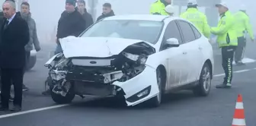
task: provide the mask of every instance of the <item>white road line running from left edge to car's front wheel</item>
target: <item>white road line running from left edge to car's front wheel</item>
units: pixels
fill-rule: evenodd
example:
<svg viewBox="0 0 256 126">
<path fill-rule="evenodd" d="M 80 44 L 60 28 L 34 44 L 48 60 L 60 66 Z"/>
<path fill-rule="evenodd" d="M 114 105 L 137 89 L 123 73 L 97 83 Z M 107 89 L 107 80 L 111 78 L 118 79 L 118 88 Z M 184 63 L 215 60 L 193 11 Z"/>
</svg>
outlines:
<svg viewBox="0 0 256 126">
<path fill-rule="evenodd" d="M 0 118 L 8 118 L 8 117 L 15 116 L 15 115 L 24 115 L 27 113 L 40 112 L 40 111 L 44 111 L 44 110 L 56 109 L 56 108 L 60 108 L 60 107 L 70 106 L 70 105 L 71 104 L 64 104 L 64 105 L 50 106 L 50 107 L 45 107 L 45 108 L 40 108 L 40 109 L 32 109 L 32 110 L 28 110 L 28 111 L 24 111 L 24 112 L 16 112 L 16 113 L 11 113 L 11 114 L 7 114 L 7 115 L 0 115 Z"/>
</svg>

